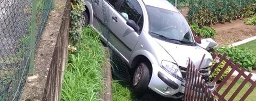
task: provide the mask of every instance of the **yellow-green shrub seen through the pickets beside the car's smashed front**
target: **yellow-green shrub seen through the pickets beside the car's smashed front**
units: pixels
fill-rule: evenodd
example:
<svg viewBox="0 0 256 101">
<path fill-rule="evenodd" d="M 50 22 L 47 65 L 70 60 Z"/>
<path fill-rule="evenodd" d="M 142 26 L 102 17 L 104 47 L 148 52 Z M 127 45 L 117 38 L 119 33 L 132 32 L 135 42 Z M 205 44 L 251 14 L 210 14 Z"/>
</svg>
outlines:
<svg viewBox="0 0 256 101">
<path fill-rule="evenodd" d="M 211 68 L 213 67 L 213 65 L 216 63 L 216 61 L 213 61 L 213 64 L 211 66 Z M 220 65 L 218 67 L 216 67 L 216 69 L 214 70 L 213 73 L 211 73 L 211 75 L 209 76 L 210 81 L 212 81 L 221 71 L 221 69 L 225 66 L 226 62 L 222 61 L 220 63 Z M 222 76 L 219 78 L 218 81 L 222 81 L 229 73 L 229 70 L 231 69 L 230 66 L 228 66 L 228 68 L 224 71 L 224 73 L 222 74 Z"/>
</svg>

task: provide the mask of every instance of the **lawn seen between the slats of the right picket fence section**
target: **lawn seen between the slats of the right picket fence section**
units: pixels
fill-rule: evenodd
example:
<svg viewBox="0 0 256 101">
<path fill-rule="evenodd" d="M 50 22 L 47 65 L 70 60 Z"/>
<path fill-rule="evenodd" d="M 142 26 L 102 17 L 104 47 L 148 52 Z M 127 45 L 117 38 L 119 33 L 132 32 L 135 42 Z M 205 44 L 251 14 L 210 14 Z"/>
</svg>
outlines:
<svg viewBox="0 0 256 101">
<path fill-rule="evenodd" d="M 225 96 L 226 99 L 229 99 L 232 94 L 237 90 L 237 88 L 240 86 L 240 84 L 243 82 L 243 79 L 239 79 L 235 85 L 231 88 L 231 90 L 228 92 L 228 94 Z M 222 94 L 227 88 L 229 84 L 224 85 L 219 93 Z M 234 101 L 239 101 L 240 98 L 247 92 L 247 90 L 251 87 L 251 83 L 246 83 L 245 86 L 242 88 L 242 90 L 238 93 L 238 95 L 235 97 Z M 255 95 L 256 95 L 256 88 L 252 91 L 252 93 L 245 99 L 246 101 L 255 101 Z"/>
</svg>

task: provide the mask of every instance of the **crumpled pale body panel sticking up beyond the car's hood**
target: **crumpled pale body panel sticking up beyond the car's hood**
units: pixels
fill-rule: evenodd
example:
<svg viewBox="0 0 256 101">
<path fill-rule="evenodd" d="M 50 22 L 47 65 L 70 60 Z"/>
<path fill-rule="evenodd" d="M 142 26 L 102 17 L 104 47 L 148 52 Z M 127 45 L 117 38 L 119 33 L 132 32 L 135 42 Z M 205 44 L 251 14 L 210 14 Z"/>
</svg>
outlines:
<svg viewBox="0 0 256 101">
<path fill-rule="evenodd" d="M 218 46 L 218 43 L 215 42 L 212 38 L 206 38 L 201 40 L 201 44 L 198 44 L 200 47 L 204 48 L 205 50 L 209 50 L 213 47 Z"/>
</svg>

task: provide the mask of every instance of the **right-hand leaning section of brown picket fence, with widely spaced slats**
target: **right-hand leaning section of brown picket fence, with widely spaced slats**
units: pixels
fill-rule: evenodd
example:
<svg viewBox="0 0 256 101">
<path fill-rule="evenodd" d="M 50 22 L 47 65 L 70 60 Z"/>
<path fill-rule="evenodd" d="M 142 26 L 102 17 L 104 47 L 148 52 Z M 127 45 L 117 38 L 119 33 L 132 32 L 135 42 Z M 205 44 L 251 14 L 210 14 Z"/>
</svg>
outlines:
<svg viewBox="0 0 256 101">
<path fill-rule="evenodd" d="M 217 52 L 216 50 L 211 49 L 210 50 L 213 53 L 213 59 L 218 58 L 219 62 L 214 64 L 212 67 L 212 72 L 214 72 L 215 68 L 218 67 L 218 65 L 222 62 L 225 61 L 226 64 L 224 65 L 224 67 L 221 69 L 220 73 L 214 78 L 214 80 L 212 82 L 217 82 L 218 79 L 221 77 L 221 75 L 224 73 L 225 70 L 227 70 L 228 66 L 230 66 L 232 69 L 230 70 L 230 72 L 228 73 L 228 75 L 222 80 L 222 82 L 218 85 L 218 87 L 214 90 L 213 94 L 216 95 L 218 97 L 218 101 L 227 101 L 227 99 L 225 99 L 225 96 L 229 93 L 229 91 L 231 90 L 231 88 L 235 85 L 235 83 L 239 80 L 239 78 L 241 78 L 243 76 L 244 81 L 240 84 L 240 86 L 238 87 L 238 89 L 232 94 L 232 96 L 228 99 L 229 101 L 234 100 L 234 98 L 238 95 L 238 93 L 243 89 L 244 85 L 247 83 L 251 83 L 251 87 L 247 90 L 247 92 L 240 98 L 240 101 L 244 101 L 248 95 L 251 94 L 251 92 L 253 91 L 253 89 L 256 87 L 256 81 L 253 81 L 251 79 L 252 74 L 250 73 L 249 75 L 246 75 L 244 72 L 246 71 L 245 68 L 240 69 L 240 65 L 239 63 L 234 64 L 233 58 L 231 57 L 230 59 L 227 59 L 227 53 L 224 53 L 223 55 L 220 54 L 219 52 Z M 223 87 L 223 85 L 228 81 L 228 79 L 230 79 L 230 77 L 232 76 L 232 74 L 237 71 L 239 74 L 234 78 L 234 80 L 229 84 L 228 88 L 222 93 L 219 94 L 218 92 L 220 91 L 220 89 Z"/>
</svg>

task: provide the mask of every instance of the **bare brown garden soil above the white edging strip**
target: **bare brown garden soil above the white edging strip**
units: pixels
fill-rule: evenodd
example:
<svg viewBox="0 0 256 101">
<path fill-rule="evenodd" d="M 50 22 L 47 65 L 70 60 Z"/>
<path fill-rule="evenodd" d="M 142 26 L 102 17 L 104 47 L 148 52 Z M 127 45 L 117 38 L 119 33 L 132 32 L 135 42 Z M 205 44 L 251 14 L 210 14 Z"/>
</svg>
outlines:
<svg viewBox="0 0 256 101">
<path fill-rule="evenodd" d="M 256 26 L 245 25 L 244 19 L 237 19 L 231 23 L 212 25 L 217 35 L 213 38 L 220 45 L 230 45 L 253 36 L 256 36 Z"/>
</svg>

